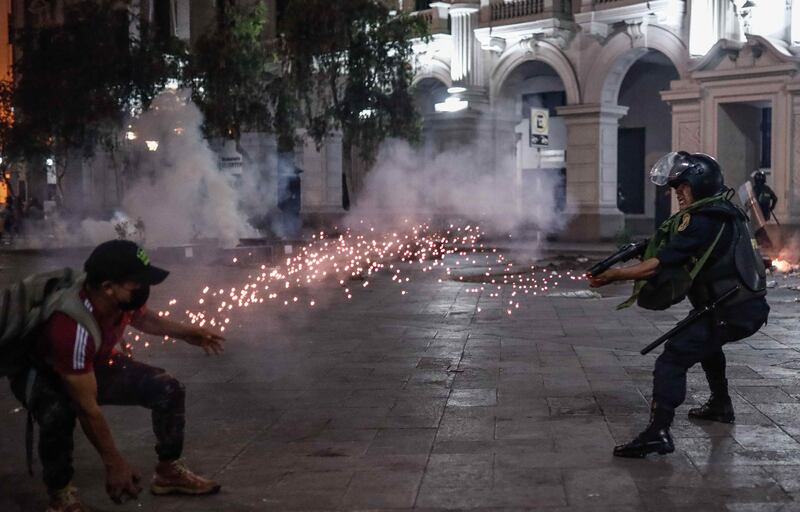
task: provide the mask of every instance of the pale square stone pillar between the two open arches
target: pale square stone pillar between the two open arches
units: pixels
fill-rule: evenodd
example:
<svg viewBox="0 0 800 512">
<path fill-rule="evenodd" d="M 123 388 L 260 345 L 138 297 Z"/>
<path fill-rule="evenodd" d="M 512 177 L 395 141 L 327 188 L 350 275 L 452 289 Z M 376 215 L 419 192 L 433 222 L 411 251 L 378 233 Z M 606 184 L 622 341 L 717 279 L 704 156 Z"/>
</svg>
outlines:
<svg viewBox="0 0 800 512">
<path fill-rule="evenodd" d="M 617 208 L 617 130 L 620 105 L 558 107 L 567 125 L 567 214 L 562 238 L 608 240 L 625 225 Z"/>
</svg>

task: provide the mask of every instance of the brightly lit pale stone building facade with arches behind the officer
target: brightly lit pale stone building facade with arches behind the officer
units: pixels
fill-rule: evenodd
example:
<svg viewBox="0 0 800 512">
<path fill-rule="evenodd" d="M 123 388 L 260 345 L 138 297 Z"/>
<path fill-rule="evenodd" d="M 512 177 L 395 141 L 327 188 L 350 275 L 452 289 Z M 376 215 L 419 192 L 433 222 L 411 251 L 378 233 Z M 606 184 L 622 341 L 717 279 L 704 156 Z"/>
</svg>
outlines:
<svg viewBox="0 0 800 512">
<path fill-rule="evenodd" d="M 561 179 L 563 238 L 652 231 L 673 205 L 647 172 L 671 150 L 714 155 L 733 187 L 767 170 L 776 215 L 800 222 L 800 1 L 395 6 L 433 34 L 415 78 L 428 141 L 491 140 L 495 164 L 512 154 L 523 208 L 527 183 Z M 531 124 L 542 110 L 547 145 Z"/>
</svg>

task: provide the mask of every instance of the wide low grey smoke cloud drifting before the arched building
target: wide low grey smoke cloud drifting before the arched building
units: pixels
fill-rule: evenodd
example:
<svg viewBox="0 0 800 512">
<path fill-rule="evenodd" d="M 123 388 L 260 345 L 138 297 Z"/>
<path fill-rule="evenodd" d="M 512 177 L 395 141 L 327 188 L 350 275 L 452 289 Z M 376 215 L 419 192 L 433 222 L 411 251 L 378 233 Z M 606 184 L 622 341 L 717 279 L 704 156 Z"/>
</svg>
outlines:
<svg viewBox="0 0 800 512">
<path fill-rule="evenodd" d="M 478 222 L 490 235 L 549 234 L 569 218 L 560 210 L 557 173 L 517 172 L 515 156 L 478 141 L 434 152 L 404 141 L 383 145 L 347 222 L 391 228 L 404 219 Z"/>
</svg>

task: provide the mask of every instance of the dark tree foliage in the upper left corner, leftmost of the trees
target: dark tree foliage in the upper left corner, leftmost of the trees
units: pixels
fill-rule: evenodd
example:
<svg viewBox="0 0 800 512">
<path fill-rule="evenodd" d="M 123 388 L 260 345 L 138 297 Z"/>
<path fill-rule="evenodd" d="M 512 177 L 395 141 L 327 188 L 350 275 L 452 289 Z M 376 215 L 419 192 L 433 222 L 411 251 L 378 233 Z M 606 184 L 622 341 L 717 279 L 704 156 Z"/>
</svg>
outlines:
<svg viewBox="0 0 800 512">
<path fill-rule="evenodd" d="M 141 23 L 129 3 L 65 2 L 63 23 L 16 34 L 21 57 L 14 63 L 7 156 L 70 149 L 91 156 L 98 144 L 113 149 L 127 118 L 178 75 L 185 58 L 180 42 Z"/>
</svg>

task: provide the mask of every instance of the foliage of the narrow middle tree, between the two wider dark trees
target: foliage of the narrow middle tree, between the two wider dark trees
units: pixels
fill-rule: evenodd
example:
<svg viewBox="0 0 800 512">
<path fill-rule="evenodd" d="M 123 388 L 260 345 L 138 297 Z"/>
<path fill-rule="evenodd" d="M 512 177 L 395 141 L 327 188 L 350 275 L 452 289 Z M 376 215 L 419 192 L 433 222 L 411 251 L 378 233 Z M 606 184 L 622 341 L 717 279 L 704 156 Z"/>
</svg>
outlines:
<svg viewBox="0 0 800 512">
<path fill-rule="evenodd" d="M 237 139 L 272 131 L 276 66 L 265 43 L 266 8 L 226 5 L 214 30 L 200 37 L 186 69 L 207 136 Z"/>
</svg>

